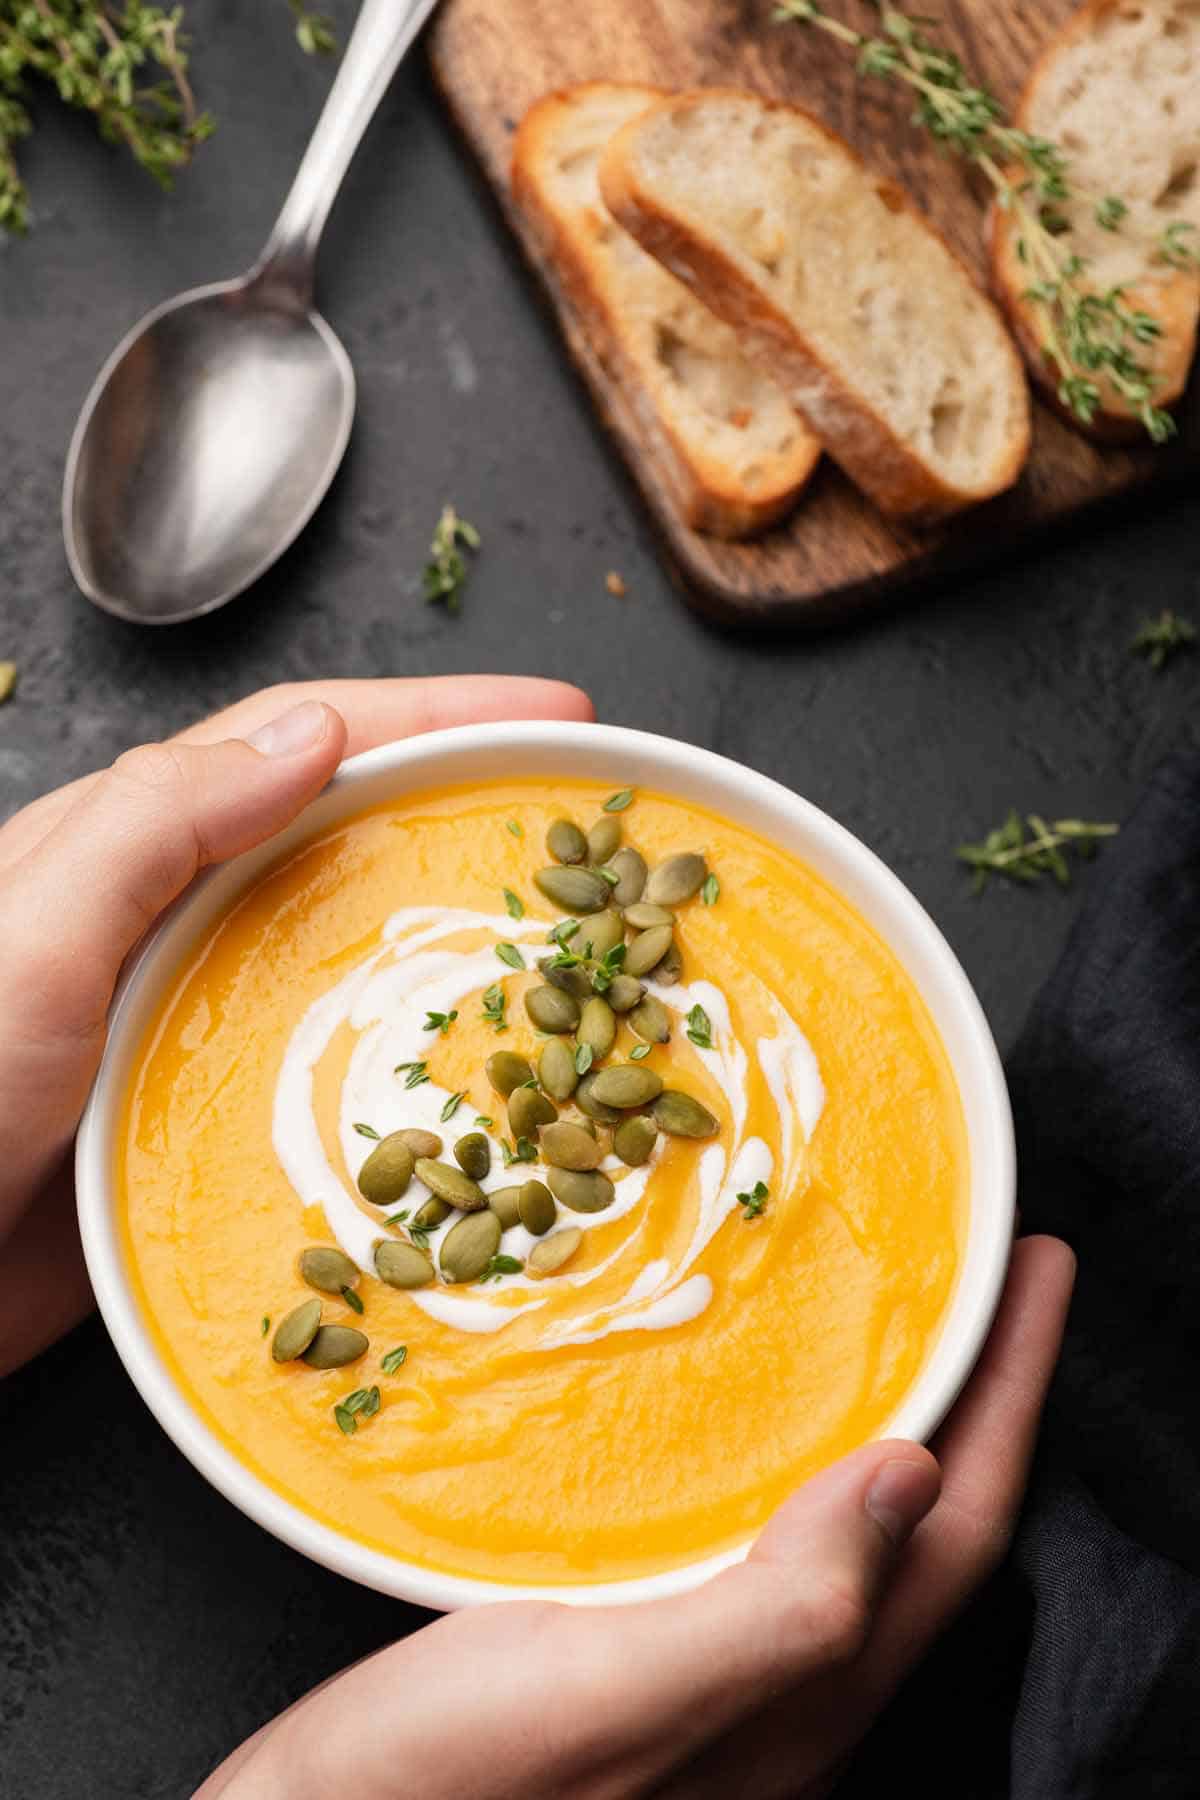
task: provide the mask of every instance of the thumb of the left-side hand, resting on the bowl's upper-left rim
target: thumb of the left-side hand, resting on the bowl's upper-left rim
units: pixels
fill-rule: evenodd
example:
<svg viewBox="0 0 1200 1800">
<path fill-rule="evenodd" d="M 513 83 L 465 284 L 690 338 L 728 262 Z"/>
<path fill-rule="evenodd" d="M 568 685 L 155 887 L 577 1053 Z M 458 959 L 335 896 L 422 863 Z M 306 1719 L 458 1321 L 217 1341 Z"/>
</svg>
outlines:
<svg viewBox="0 0 1200 1800">
<path fill-rule="evenodd" d="M 288 824 L 326 785 L 345 725 L 308 700 L 254 742 L 144 745 L 0 877 L 2 1193 L 18 1204 L 70 1139 L 121 963 L 209 862 Z M 0 1233 L 11 1217 L 0 1217 Z"/>
</svg>

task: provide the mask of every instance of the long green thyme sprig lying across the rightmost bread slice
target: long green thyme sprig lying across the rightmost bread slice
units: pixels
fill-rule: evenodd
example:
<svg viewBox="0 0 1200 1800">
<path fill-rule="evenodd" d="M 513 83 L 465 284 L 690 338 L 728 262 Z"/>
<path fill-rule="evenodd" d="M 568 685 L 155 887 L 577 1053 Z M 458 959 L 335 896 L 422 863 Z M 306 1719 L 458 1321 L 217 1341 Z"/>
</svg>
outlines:
<svg viewBox="0 0 1200 1800">
<path fill-rule="evenodd" d="M 900 81 L 916 94 L 914 124 L 941 146 L 975 164 L 995 189 L 997 205 L 1016 227 L 1016 254 L 1029 270 L 1025 299 L 1042 319 L 1042 355 L 1054 371 L 1061 405 L 1090 425 L 1101 409 L 1101 382 L 1128 403 L 1153 443 L 1175 432 L 1169 412 L 1153 403 L 1157 376 L 1141 353 L 1162 335 L 1153 313 L 1126 304 L 1124 290 L 1097 292 L 1088 263 L 1070 248 L 1065 207 L 1085 203 L 1103 230 L 1115 232 L 1128 214 L 1117 194 L 1085 194 L 1070 178 L 1067 157 L 1043 137 L 1009 124 L 1000 101 L 975 85 L 959 58 L 918 23 L 882 0 L 880 36 L 831 18 L 817 0 L 777 0 L 775 22 L 813 25 L 858 52 L 860 76 Z M 1159 257 L 1177 268 L 1196 266 L 1191 225 L 1173 220 L 1159 239 Z"/>
</svg>

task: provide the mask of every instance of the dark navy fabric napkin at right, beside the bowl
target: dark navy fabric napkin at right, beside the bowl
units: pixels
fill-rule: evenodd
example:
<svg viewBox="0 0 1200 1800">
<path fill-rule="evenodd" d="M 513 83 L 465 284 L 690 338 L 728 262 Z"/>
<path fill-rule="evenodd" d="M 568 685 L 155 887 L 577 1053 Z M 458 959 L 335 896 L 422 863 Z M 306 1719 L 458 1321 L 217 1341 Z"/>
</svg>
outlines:
<svg viewBox="0 0 1200 1800">
<path fill-rule="evenodd" d="M 838 1789 L 1200 1796 L 1200 756 L 1155 774 L 1009 1064 L 1079 1256 L 1013 1553 Z"/>
</svg>

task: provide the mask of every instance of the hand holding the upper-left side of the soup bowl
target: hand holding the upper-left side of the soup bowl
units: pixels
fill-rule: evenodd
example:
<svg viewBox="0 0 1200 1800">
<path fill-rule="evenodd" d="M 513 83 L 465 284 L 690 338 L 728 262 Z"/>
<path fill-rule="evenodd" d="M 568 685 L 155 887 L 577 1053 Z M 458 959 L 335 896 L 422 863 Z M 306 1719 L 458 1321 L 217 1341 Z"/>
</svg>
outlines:
<svg viewBox="0 0 1200 1800">
<path fill-rule="evenodd" d="M 121 965 L 210 862 L 281 832 L 344 756 L 441 725 L 592 718 L 507 677 L 266 688 L 0 828 L 0 1375 L 92 1305 L 68 1154 Z"/>
</svg>

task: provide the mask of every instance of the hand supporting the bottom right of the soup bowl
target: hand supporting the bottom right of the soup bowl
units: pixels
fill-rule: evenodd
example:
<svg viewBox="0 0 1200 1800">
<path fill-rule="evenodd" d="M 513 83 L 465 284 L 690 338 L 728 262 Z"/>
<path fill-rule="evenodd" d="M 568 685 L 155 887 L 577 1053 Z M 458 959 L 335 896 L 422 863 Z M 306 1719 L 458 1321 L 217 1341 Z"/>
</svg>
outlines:
<svg viewBox="0 0 1200 1800">
<path fill-rule="evenodd" d="M 937 1460 L 856 1451 L 678 1598 L 443 1618 L 264 1726 L 196 1800 L 820 1800 L 1007 1548 L 1072 1280 L 1056 1238 L 1015 1246 Z"/>
</svg>

